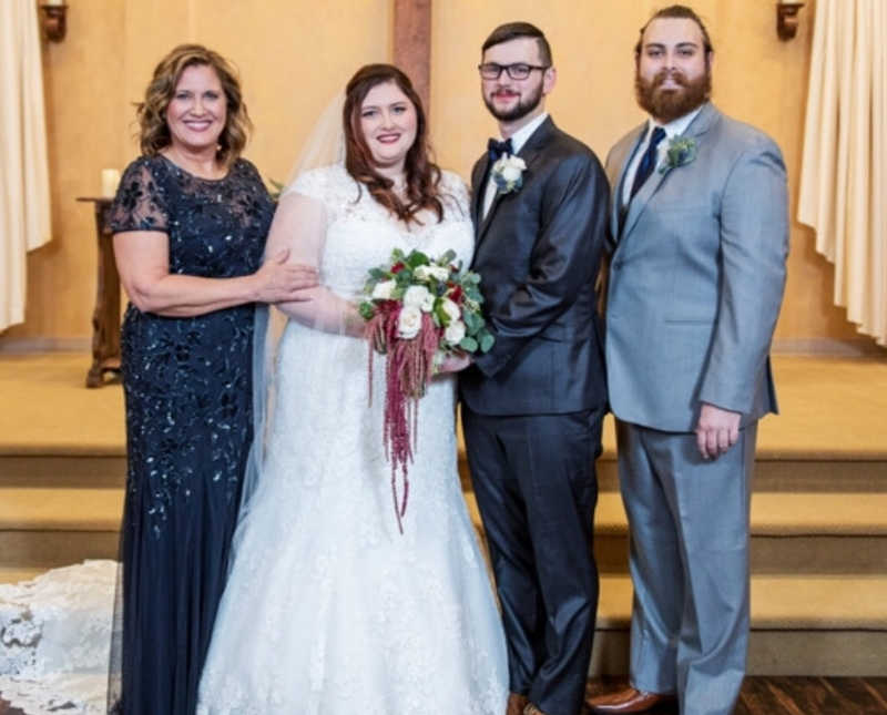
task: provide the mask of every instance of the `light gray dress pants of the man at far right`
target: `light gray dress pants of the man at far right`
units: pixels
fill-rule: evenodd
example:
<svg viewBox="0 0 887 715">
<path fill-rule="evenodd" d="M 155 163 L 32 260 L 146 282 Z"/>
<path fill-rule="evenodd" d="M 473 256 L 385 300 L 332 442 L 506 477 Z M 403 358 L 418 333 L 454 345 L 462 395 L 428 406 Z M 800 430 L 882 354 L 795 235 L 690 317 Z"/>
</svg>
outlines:
<svg viewBox="0 0 887 715">
<path fill-rule="evenodd" d="M 616 422 L 634 585 L 631 681 L 682 715 L 728 715 L 748 650 L 748 511 L 757 423 L 716 460 L 693 433 Z"/>
</svg>

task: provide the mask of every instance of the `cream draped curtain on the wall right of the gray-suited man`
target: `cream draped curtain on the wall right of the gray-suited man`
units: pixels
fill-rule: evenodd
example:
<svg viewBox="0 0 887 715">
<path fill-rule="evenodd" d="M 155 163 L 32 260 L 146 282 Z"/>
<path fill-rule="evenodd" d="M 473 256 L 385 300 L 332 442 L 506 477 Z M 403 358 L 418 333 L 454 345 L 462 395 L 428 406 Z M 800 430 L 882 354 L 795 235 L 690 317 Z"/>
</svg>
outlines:
<svg viewBox="0 0 887 715">
<path fill-rule="evenodd" d="M 817 0 L 798 221 L 835 304 L 887 346 L 887 0 Z"/>
</svg>

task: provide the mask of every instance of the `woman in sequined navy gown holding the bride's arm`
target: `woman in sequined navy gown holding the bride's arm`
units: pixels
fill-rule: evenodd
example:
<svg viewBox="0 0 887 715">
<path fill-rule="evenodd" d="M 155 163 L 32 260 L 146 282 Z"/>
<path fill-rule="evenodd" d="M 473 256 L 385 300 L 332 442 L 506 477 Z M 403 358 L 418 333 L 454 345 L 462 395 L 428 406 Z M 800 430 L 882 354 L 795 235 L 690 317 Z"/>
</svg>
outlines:
<svg viewBox="0 0 887 715">
<path fill-rule="evenodd" d="M 130 305 L 122 632 L 109 706 L 191 715 L 252 441 L 254 304 L 298 300 L 316 276 L 285 252 L 263 264 L 274 203 L 239 157 L 249 120 L 224 58 L 174 49 L 139 122 L 143 155 L 111 218 Z"/>
</svg>

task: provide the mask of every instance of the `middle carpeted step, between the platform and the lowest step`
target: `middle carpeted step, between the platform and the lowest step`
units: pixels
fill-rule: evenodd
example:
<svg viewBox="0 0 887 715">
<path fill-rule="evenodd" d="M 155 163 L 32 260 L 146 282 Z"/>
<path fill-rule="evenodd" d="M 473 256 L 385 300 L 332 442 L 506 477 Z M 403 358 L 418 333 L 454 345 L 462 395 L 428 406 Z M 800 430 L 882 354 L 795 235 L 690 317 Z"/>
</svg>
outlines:
<svg viewBox="0 0 887 715">
<path fill-rule="evenodd" d="M 466 500 L 479 525 L 473 493 Z M 0 566 L 114 558 L 122 510 L 115 487 L 0 487 Z M 628 571 L 628 523 L 615 492 L 600 494 L 594 548 L 602 573 Z M 756 492 L 752 571 L 887 575 L 887 494 Z"/>
</svg>

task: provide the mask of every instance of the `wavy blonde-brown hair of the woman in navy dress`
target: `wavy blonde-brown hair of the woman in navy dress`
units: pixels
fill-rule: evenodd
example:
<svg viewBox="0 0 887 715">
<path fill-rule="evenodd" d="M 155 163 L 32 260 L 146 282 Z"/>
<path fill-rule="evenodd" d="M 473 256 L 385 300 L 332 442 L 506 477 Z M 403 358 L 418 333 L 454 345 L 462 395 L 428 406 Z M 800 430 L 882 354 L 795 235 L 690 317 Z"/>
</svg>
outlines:
<svg viewBox="0 0 887 715">
<path fill-rule="evenodd" d="M 218 136 L 216 160 L 231 166 L 241 155 L 253 123 L 241 93 L 237 72 L 225 58 L 202 44 L 180 44 L 163 58 L 154 69 L 154 76 L 145 90 L 145 101 L 136 105 L 139 139 L 142 153 L 155 156 L 172 142 L 166 124 L 166 109 L 186 68 L 205 64 L 213 68 L 225 92 L 227 112 L 225 127 Z"/>
</svg>

